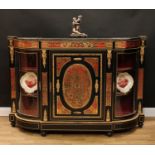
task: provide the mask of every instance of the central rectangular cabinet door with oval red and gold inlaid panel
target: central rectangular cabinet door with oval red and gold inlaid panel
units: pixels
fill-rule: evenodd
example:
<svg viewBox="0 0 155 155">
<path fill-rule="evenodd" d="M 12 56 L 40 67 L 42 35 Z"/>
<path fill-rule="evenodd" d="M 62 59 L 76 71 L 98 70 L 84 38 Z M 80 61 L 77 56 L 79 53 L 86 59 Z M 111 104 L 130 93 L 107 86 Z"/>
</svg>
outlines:
<svg viewBox="0 0 155 155">
<path fill-rule="evenodd" d="M 52 52 L 49 100 L 52 119 L 103 120 L 104 52 Z"/>
</svg>

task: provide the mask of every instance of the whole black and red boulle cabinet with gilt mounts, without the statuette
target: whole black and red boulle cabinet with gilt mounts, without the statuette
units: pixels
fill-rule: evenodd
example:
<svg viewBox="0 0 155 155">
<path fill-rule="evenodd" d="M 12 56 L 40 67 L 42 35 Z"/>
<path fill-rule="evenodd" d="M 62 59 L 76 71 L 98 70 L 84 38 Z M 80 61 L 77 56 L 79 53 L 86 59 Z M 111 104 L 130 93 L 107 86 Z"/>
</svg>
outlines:
<svg viewBox="0 0 155 155">
<path fill-rule="evenodd" d="M 146 37 L 8 37 L 12 126 L 46 131 L 142 127 Z"/>
</svg>

